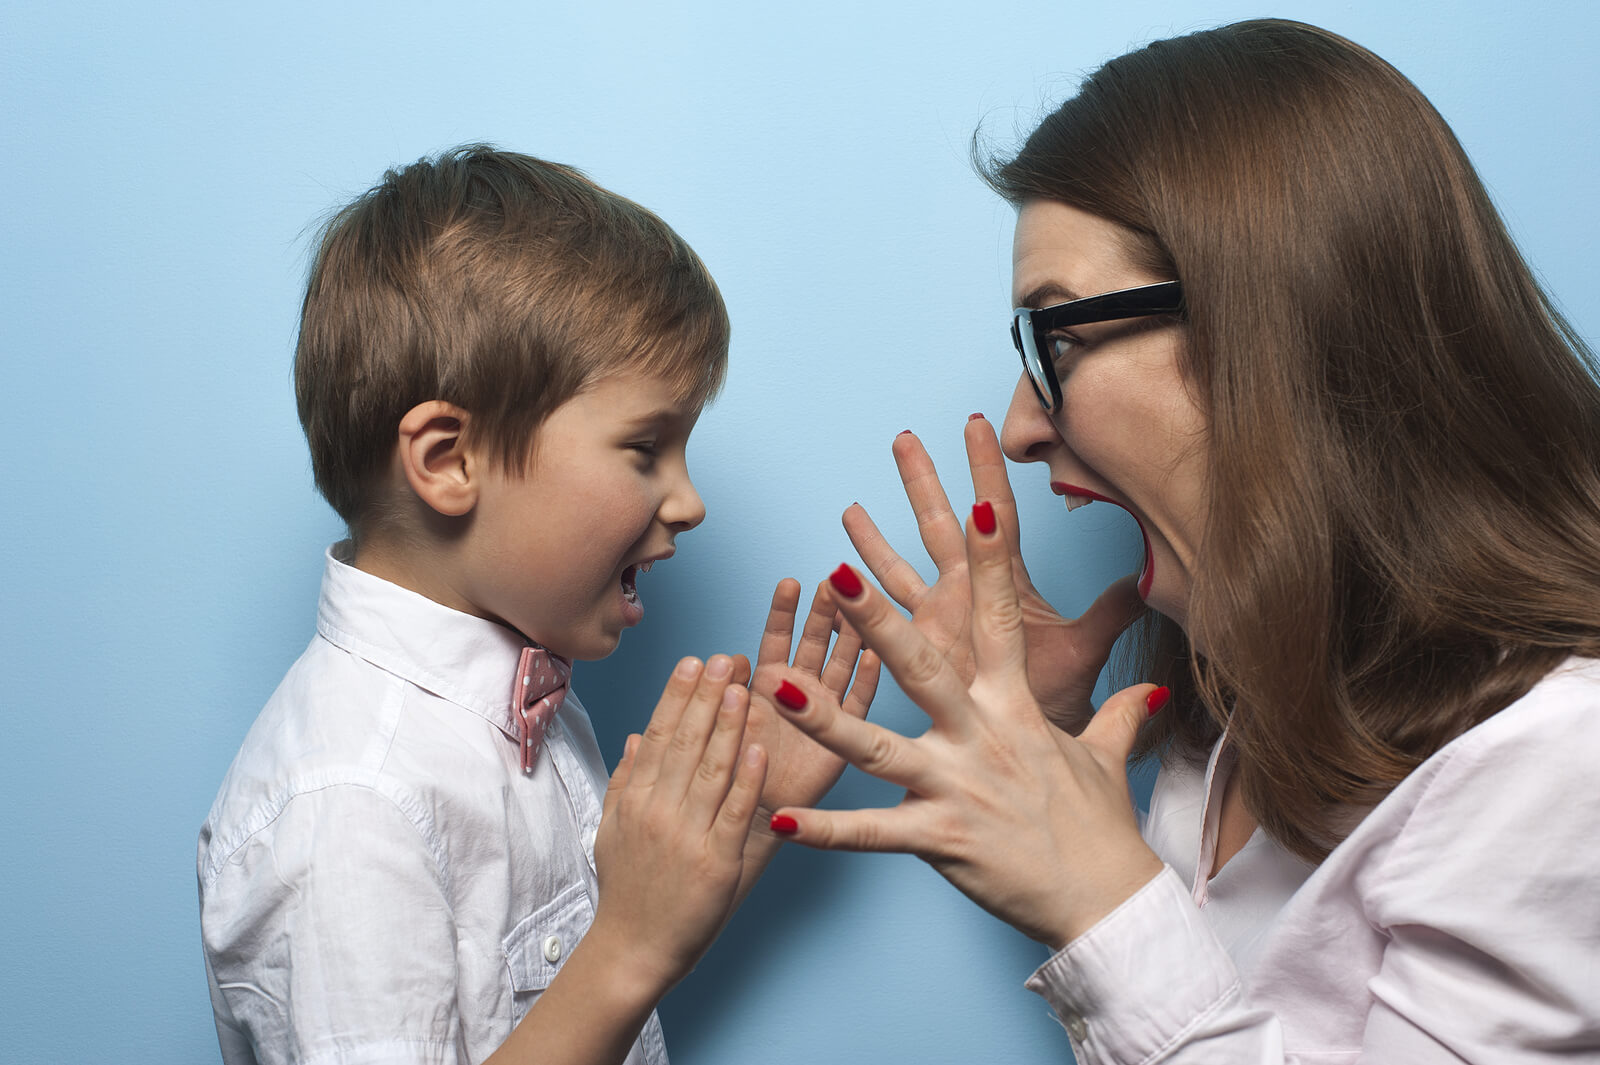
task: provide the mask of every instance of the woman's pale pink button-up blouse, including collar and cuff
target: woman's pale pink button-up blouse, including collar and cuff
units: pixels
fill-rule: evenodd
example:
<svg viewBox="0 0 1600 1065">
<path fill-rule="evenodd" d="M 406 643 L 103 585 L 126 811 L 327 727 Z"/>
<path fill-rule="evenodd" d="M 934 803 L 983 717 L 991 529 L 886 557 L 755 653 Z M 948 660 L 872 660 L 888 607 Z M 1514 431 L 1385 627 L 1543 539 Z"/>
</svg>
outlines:
<svg viewBox="0 0 1600 1065">
<path fill-rule="evenodd" d="M 1163 771 L 1168 868 L 1027 987 L 1083 1065 L 1597 1063 L 1597 768 L 1600 662 L 1573 659 L 1315 870 L 1258 833 L 1210 881 L 1226 761 Z"/>
</svg>

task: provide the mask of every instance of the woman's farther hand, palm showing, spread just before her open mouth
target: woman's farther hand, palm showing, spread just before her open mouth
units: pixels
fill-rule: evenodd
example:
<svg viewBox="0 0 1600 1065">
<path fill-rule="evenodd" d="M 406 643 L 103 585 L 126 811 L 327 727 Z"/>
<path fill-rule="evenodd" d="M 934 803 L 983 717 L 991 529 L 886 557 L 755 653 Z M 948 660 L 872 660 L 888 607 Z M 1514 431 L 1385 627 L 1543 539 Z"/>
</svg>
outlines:
<svg viewBox="0 0 1600 1065">
<path fill-rule="evenodd" d="M 1045 716 L 1058 728 L 1078 732 L 1090 720 L 1094 681 L 1110 657 L 1117 636 L 1139 616 L 1136 579 L 1123 577 L 1101 593 L 1082 617 L 1067 619 L 1045 601 L 1022 564 L 1016 499 L 1005 470 L 1005 456 L 987 419 L 966 422 L 966 461 L 973 493 L 989 501 L 1011 556 L 1018 609 L 1027 644 L 1027 681 Z M 917 515 L 917 531 L 939 577 L 928 585 L 854 504 L 845 510 L 845 532 L 861 560 L 890 596 L 910 611 L 912 622 L 949 659 L 966 681 L 973 678 L 971 582 L 962 523 L 939 483 L 922 441 L 909 430 L 894 438 L 894 465 L 906 485 L 906 499 Z"/>
</svg>

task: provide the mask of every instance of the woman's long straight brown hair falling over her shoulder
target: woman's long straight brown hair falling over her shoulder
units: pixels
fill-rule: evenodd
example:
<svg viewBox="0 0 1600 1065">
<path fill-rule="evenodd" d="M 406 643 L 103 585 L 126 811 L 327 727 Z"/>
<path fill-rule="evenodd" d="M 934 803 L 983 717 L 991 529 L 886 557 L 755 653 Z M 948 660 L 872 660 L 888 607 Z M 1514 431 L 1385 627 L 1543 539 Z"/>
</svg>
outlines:
<svg viewBox="0 0 1600 1065">
<path fill-rule="evenodd" d="M 1210 520 L 1144 750 L 1226 724 L 1245 804 L 1320 860 L 1453 737 L 1600 656 L 1600 387 L 1466 154 L 1394 67 L 1253 21 L 1101 67 L 1010 160 L 1181 278 Z"/>
</svg>

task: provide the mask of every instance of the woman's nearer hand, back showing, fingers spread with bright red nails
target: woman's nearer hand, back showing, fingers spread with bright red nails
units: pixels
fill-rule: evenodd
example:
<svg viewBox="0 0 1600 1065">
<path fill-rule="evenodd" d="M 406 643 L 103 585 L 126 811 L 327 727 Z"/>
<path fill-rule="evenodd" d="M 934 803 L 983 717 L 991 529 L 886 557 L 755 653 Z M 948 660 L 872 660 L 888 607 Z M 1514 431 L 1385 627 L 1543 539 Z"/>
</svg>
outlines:
<svg viewBox="0 0 1600 1065">
<path fill-rule="evenodd" d="M 776 699 L 789 718 L 856 768 L 904 787 L 906 798 L 891 809 L 782 809 L 773 827 L 816 848 L 915 854 L 1059 950 L 1162 870 L 1139 838 L 1126 760 L 1165 692 L 1149 684 L 1117 692 L 1078 739 L 1045 720 L 1030 684 L 1016 534 L 997 523 L 1002 513 L 979 504 L 965 531 L 970 676 L 853 569 L 835 571 L 840 611 L 931 726 L 907 739 L 858 721 L 826 686 L 786 673 Z"/>
</svg>

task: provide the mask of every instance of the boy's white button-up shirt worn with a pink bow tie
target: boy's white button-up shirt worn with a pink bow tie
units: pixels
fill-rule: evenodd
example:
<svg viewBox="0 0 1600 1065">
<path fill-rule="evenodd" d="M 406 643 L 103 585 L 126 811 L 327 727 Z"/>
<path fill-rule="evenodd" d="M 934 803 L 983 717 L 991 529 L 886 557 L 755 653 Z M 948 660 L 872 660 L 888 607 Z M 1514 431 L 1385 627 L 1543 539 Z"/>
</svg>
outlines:
<svg viewBox="0 0 1600 1065">
<path fill-rule="evenodd" d="M 523 640 L 347 566 L 200 830 L 226 1065 L 475 1063 L 594 919 L 606 769 L 568 696 L 533 774 Z M 629 1065 L 666 1065 L 651 1014 Z"/>
</svg>

